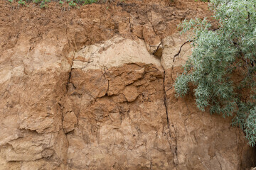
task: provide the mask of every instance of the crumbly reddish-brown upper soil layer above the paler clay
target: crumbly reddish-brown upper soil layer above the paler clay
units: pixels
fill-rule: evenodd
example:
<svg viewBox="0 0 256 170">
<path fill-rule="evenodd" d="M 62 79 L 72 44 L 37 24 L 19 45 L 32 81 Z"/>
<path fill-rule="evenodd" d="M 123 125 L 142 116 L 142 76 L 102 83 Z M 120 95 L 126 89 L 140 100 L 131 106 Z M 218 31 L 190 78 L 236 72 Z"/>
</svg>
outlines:
<svg viewBox="0 0 256 170">
<path fill-rule="evenodd" d="M 116 34 L 144 39 L 145 26 L 162 39 L 175 33 L 185 18 L 210 16 L 207 6 L 194 0 L 127 0 L 80 8 L 50 2 L 47 8 L 40 8 L 33 3 L 20 6 L 17 2 L 0 1 L 0 55 L 14 47 L 21 34 L 29 39 L 32 50 L 50 30 L 68 37 L 75 50 Z"/>
</svg>

